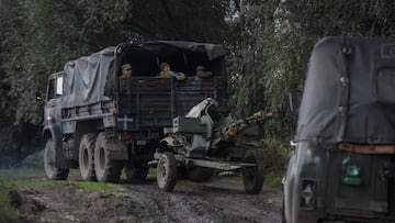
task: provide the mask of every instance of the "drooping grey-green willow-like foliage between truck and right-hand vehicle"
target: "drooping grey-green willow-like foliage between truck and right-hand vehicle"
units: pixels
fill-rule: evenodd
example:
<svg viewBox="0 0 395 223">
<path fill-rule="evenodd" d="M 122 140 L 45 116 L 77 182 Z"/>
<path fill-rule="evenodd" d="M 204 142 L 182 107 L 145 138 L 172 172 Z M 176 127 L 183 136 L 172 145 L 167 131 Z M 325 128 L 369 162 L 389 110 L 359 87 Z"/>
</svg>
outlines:
<svg viewBox="0 0 395 223">
<path fill-rule="evenodd" d="M 287 92 L 302 90 L 308 55 L 327 35 L 395 34 L 395 2 L 381 1 L 242 1 L 234 59 L 230 62 L 234 108 L 248 115 L 266 108 L 274 112 L 269 136 L 290 138 L 295 119 Z"/>
</svg>

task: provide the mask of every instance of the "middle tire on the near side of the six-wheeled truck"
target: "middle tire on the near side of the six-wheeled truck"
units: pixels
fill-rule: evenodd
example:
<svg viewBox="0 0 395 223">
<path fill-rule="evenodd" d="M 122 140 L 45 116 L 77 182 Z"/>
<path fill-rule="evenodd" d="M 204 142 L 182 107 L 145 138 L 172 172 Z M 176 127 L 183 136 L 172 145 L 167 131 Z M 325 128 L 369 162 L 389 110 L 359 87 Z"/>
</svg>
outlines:
<svg viewBox="0 0 395 223">
<path fill-rule="evenodd" d="M 95 134 L 83 134 L 80 141 L 78 163 L 82 180 L 95 181 L 94 172 Z"/>
</svg>

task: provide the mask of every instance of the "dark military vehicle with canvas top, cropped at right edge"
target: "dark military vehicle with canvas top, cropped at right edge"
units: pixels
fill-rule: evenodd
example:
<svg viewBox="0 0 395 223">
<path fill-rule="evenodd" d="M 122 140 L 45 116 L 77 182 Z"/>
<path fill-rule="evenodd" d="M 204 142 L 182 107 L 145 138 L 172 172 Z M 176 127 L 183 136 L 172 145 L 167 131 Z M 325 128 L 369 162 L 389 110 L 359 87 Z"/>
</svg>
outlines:
<svg viewBox="0 0 395 223">
<path fill-rule="evenodd" d="M 394 96 L 395 38 L 315 45 L 283 181 L 283 222 L 395 222 Z"/>
</svg>

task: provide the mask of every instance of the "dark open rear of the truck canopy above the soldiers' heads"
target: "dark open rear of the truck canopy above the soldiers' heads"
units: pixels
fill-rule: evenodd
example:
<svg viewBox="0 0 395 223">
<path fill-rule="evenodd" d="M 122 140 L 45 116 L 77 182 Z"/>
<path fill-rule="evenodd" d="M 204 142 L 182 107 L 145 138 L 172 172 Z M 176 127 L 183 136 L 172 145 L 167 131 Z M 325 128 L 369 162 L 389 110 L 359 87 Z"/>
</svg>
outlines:
<svg viewBox="0 0 395 223">
<path fill-rule="evenodd" d="M 155 76 L 160 64 L 168 63 L 173 71 L 193 76 L 198 65 L 224 75 L 225 51 L 221 45 L 193 42 L 156 41 L 121 44 L 116 49 L 116 68 L 131 64 L 134 76 Z M 120 75 L 119 70 L 115 75 Z"/>
</svg>

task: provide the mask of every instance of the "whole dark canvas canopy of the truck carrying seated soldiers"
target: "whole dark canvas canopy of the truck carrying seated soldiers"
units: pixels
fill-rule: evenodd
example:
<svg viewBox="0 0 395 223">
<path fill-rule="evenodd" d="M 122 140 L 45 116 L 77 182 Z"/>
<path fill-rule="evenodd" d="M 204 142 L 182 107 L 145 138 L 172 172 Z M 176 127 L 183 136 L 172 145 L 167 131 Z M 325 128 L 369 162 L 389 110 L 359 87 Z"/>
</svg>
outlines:
<svg viewBox="0 0 395 223">
<path fill-rule="evenodd" d="M 133 76 L 155 77 L 162 62 L 187 77 L 194 75 L 198 65 L 204 65 L 215 76 L 226 79 L 225 51 L 221 45 L 172 41 L 125 43 L 65 65 L 63 108 L 111 100 L 122 64 L 133 66 Z"/>
</svg>

